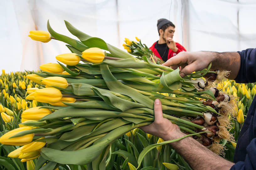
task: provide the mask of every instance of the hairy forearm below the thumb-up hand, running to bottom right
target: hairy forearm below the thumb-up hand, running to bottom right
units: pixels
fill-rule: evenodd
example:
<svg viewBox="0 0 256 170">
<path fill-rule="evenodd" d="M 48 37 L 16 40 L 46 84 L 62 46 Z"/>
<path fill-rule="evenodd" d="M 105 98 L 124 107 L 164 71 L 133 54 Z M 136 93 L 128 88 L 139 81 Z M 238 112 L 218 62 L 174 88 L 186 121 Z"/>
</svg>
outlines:
<svg viewBox="0 0 256 170">
<path fill-rule="evenodd" d="M 164 140 L 172 140 L 174 138 L 180 138 L 184 135 L 184 133 L 180 132 L 177 133 L 175 137 L 167 137 Z M 170 144 L 195 170 L 228 170 L 234 165 L 234 163 L 227 161 L 226 159 L 211 152 L 208 148 L 191 137 L 187 137 Z"/>
</svg>

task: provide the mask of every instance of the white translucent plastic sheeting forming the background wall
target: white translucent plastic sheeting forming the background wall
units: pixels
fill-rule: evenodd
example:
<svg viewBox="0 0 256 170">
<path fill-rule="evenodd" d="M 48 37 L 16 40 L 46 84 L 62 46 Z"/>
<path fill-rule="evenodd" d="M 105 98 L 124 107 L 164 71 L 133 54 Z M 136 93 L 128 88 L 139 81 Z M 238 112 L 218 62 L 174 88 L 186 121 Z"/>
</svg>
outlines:
<svg viewBox="0 0 256 170">
<path fill-rule="evenodd" d="M 119 47 L 125 37 L 151 46 L 158 40 L 157 19 L 176 26 L 174 40 L 188 51 L 238 51 L 256 47 L 254 0 L 1 0 L 0 73 L 37 70 L 69 53 L 65 43 L 37 42 L 29 30 L 52 28 L 74 37 L 69 21 L 81 31 Z"/>
</svg>

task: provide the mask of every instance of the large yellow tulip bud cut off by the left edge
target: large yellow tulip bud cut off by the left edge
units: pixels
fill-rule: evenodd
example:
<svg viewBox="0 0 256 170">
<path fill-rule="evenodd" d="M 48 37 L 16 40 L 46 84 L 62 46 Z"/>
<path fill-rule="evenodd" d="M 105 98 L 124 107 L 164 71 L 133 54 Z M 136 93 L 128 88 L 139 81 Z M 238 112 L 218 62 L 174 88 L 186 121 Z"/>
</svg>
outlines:
<svg viewBox="0 0 256 170">
<path fill-rule="evenodd" d="M 32 142 L 32 139 L 34 137 L 33 133 L 24 135 L 24 136 L 20 136 L 20 137 L 15 137 L 15 138 L 10 138 L 13 135 L 16 135 L 17 133 L 20 133 L 22 131 L 25 130 L 31 130 L 31 128 L 29 127 L 21 127 L 21 128 L 17 128 L 17 129 L 13 129 L 5 134 L 3 134 L 3 136 L 1 136 L 0 138 L 0 143 L 4 144 L 4 145 L 25 145 L 28 144 L 30 142 Z"/>
</svg>

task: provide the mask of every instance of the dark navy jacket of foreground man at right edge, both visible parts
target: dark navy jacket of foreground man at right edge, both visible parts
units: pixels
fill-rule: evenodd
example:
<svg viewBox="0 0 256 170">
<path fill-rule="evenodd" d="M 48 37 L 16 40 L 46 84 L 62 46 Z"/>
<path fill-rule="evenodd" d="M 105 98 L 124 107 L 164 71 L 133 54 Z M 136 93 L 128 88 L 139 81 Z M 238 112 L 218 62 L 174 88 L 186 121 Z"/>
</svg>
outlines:
<svg viewBox="0 0 256 170">
<path fill-rule="evenodd" d="M 249 48 L 238 52 L 241 57 L 241 66 L 237 83 L 256 82 L 256 48 Z M 237 140 L 237 147 L 234 154 L 234 163 L 231 170 L 256 169 L 256 98 L 247 113 L 243 128 Z"/>
</svg>

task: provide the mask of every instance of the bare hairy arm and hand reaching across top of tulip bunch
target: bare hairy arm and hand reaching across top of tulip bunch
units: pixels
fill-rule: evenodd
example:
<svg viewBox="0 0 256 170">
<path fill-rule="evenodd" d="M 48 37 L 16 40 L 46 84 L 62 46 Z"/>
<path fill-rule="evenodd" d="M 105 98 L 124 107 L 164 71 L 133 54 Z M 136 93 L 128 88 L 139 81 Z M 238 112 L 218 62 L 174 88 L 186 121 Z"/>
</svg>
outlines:
<svg viewBox="0 0 256 170">
<path fill-rule="evenodd" d="M 230 71 L 229 79 L 235 79 L 240 69 L 240 55 L 237 52 L 180 52 L 167 60 L 163 65 L 181 67 L 180 75 L 184 77 L 194 71 L 200 71 L 212 63 L 211 70 Z"/>
</svg>

